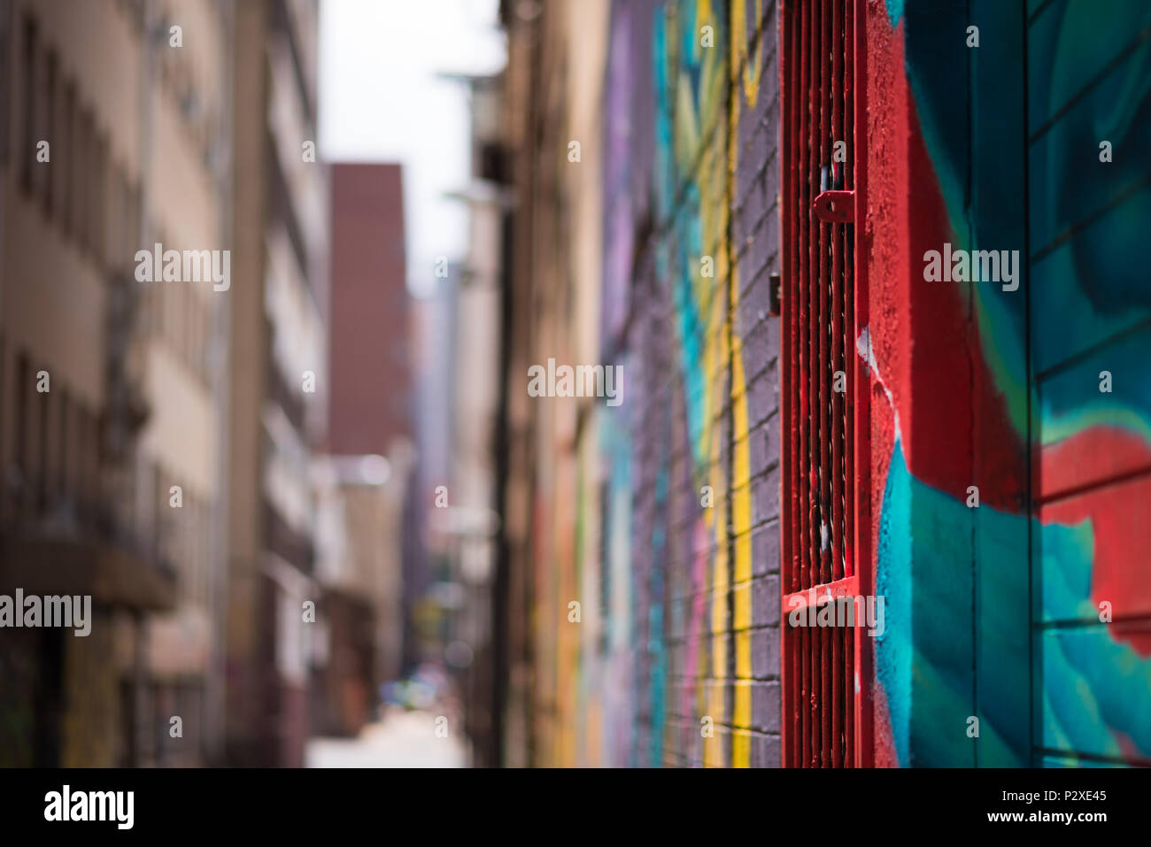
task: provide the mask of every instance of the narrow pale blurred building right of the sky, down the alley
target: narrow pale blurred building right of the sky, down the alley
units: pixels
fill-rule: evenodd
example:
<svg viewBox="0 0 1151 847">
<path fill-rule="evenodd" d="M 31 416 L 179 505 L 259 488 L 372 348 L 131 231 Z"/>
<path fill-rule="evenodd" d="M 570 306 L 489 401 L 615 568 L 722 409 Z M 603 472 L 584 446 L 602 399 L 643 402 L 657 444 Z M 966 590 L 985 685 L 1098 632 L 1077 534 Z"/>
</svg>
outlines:
<svg viewBox="0 0 1151 847">
<path fill-rule="evenodd" d="M 447 552 L 455 603 L 448 616 L 445 658 L 464 702 L 472 764 L 496 764 L 493 743 L 502 711 L 497 665 L 495 579 L 500 517 L 496 478 L 501 402 L 500 351 L 511 196 L 501 138 L 500 81 L 460 79 L 470 89 L 471 178 L 456 197 L 468 209 L 468 249 L 445 285 L 451 299 L 450 472 L 432 510 L 433 531 Z"/>
</svg>

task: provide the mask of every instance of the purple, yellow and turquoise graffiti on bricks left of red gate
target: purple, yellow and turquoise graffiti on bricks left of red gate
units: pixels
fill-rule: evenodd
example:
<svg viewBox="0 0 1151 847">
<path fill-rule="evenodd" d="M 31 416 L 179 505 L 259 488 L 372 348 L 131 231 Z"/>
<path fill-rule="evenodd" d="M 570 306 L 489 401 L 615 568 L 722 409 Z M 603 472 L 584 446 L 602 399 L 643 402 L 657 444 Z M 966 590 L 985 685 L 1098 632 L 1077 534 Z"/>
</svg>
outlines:
<svg viewBox="0 0 1151 847">
<path fill-rule="evenodd" d="M 776 32 L 754 6 L 612 5 L 602 348 L 638 399 L 596 415 L 605 639 L 580 670 L 602 764 L 778 763 L 776 257 L 734 244 L 777 228 Z"/>
</svg>

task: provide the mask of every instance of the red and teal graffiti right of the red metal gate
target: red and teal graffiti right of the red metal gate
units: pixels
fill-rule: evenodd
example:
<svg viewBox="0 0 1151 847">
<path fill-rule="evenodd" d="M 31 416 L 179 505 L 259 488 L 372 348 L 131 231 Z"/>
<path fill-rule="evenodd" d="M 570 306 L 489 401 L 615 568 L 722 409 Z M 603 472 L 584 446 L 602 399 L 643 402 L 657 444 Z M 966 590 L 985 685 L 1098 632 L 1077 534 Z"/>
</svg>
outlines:
<svg viewBox="0 0 1151 847">
<path fill-rule="evenodd" d="M 881 762 L 1151 761 L 1151 14 L 1113 12 L 1129 25 L 1078 0 L 869 20 L 872 182 L 907 194 L 871 222 L 898 245 L 871 265 L 894 276 L 870 328 Z M 944 242 L 1020 250 L 1022 287 L 923 282 Z"/>
</svg>

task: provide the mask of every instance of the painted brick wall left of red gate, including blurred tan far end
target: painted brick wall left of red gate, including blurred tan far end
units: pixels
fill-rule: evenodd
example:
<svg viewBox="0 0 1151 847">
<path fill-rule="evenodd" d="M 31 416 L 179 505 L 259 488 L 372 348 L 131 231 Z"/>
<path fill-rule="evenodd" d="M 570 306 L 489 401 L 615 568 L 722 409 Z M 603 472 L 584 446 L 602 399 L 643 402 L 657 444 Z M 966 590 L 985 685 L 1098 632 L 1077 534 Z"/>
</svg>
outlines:
<svg viewBox="0 0 1151 847">
<path fill-rule="evenodd" d="M 504 758 L 777 765 L 775 5 L 506 23 Z M 549 358 L 622 402 L 527 397 Z"/>
</svg>

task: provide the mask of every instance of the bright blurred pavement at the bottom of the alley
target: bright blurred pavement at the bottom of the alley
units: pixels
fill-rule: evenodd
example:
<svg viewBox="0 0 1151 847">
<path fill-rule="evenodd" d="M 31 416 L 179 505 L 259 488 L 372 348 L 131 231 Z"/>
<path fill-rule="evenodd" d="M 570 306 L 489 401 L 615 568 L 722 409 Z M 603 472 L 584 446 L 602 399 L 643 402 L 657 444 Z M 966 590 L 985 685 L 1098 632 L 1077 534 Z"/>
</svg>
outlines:
<svg viewBox="0 0 1151 847">
<path fill-rule="evenodd" d="M 463 768 L 459 737 L 436 738 L 437 712 L 389 707 L 382 720 L 358 738 L 315 738 L 307 742 L 308 768 Z"/>
</svg>

